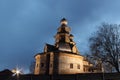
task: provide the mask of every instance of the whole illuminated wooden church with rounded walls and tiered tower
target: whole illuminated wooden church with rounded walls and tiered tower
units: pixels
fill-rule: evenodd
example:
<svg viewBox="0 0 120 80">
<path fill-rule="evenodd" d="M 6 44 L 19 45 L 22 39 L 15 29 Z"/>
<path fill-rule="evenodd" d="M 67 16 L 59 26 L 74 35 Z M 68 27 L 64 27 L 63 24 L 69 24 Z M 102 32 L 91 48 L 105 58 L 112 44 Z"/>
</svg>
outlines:
<svg viewBox="0 0 120 80">
<path fill-rule="evenodd" d="M 44 51 L 35 55 L 34 74 L 78 74 L 88 73 L 93 66 L 80 55 L 74 42 L 74 36 L 63 18 L 54 36 L 54 45 L 46 44 Z"/>
</svg>

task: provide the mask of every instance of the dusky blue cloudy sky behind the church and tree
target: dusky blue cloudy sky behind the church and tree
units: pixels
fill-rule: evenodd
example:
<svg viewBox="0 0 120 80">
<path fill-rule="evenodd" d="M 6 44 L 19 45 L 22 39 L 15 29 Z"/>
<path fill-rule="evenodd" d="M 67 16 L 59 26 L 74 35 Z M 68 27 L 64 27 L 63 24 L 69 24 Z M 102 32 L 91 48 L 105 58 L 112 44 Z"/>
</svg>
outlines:
<svg viewBox="0 0 120 80">
<path fill-rule="evenodd" d="M 0 0 L 0 71 L 28 70 L 67 18 L 81 54 L 102 22 L 120 23 L 120 0 Z"/>
</svg>

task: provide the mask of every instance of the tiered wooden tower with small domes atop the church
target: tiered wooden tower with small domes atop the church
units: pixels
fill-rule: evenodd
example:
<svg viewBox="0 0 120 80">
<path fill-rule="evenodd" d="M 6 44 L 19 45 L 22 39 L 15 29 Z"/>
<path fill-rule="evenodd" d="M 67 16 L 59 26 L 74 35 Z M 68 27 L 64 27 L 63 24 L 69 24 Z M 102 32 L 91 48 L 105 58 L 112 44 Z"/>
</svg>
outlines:
<svg viewBox="0 0 120 80">
<path fill-rule="evenodd" d="M 78 54 L 76 44 L 73 41 L 73 35 L 70 34 L 71 29 L 67 24 L 68 21 L 65 18 L 60 21 L 60 27 L 55 35 L 55 46 L 60 51 Z"/>
</svg>

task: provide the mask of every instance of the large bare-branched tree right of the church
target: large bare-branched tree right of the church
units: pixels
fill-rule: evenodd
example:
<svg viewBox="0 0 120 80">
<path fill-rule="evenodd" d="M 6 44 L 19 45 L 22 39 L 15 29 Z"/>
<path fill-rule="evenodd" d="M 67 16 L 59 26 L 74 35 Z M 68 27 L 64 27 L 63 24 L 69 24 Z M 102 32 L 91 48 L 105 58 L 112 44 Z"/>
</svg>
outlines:
<svg viewBox="0 0 120 80">
<path fill-rule="evenodd" d="M 117 72 L 120 56 L 120 25 L 102 24 L 89 39 L 92 55 L 110 64 Z"/>
</svg>

